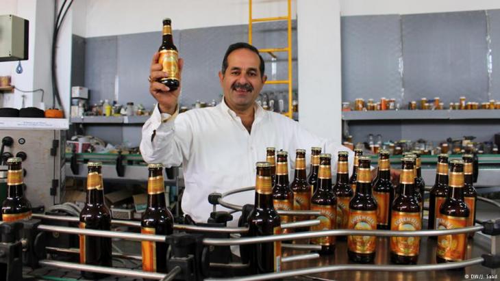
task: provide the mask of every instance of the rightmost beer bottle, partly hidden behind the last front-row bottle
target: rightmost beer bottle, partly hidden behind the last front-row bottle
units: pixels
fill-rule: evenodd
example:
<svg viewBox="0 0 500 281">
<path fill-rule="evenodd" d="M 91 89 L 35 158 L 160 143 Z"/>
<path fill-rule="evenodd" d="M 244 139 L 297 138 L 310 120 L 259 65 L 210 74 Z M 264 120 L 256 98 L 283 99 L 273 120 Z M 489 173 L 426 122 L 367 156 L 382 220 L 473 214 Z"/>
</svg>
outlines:
<svg viewBox="0 0 500 281">
<path fill-rule="evenodd" d="M 468 206 L 470 215 L 467 219 L 467 226 L 474 226 L 476 219 L 477 192 L 473 185 L 473 162 L 474 155 L 466 154 L 462 156 L 464 160 L 464 200 Z M 468 237 L 474 237 L 475 232 L 468 233 Z"/>
</svg>

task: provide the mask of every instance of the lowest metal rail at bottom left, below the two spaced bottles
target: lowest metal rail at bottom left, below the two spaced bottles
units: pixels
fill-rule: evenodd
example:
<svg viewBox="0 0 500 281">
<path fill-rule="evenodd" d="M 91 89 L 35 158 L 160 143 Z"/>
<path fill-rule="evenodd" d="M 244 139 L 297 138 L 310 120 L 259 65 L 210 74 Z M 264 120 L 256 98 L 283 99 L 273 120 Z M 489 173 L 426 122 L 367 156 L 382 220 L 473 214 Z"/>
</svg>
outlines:
<svg viewBox="0 0 500 281">
<path fill-rule="evenodd" d="M 132 270 L 132 269 L 123 269 L 123 268 L 115 268 L 115 267 L 98 267 L 96 265 L 82 265 L 79 263 L 66 263 L 66 262 L 57 261 L 57 260 L 40 260 L 38 262 L 38 264 L 41 266 L 46 266 L 46 267 L 58 267 L 58 268 L 72 269 L 72 270 L 78 270 L 78 271 L 80 271 L 80 270 L 81 271 L 90 271 L 90 272 L 111 274 L 111 275 L 117 275 L 117 276 L 126 276 L 126 277 L 132 277 L 132 278 L 149 278 L 149 279 L 155 279 L 155 280 L 162 280 L 162 279 L 166 278 L 168 276 L 168 274 L 170 274 L 170 273 L 164 274 L 164 273 L 140 271 L 140 270 L 136 270 L 136 269 Z M 176 272 L 176 274 L 177 274 L 177 272 Z"/>
</svg>

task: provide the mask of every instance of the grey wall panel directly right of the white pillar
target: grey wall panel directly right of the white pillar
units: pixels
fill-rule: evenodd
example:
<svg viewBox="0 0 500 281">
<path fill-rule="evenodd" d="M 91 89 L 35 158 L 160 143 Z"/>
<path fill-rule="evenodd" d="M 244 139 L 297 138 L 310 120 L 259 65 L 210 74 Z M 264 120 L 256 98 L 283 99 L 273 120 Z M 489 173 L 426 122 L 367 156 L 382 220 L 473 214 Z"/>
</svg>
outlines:
<svg viewBox="0 0 500 281">
<path fill-rule="evenodd" d="M 400 98 L 400 16 L 342 16 L 341 36 L 342 100 Z"/>
</svg>

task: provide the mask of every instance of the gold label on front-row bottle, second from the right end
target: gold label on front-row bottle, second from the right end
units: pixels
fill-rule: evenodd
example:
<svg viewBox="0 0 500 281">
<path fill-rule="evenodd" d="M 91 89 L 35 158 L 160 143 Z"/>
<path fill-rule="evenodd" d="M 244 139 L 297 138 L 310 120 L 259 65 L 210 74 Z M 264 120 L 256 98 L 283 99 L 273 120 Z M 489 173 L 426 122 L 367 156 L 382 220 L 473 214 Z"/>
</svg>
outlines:
<svg viewBox="0 0 500 281">
<path fill-rule="evenodd" d="M 392 211 L 391 220 L 390 230 L 415 231 L 422 229 L 420 212 Z M 399 256 L 417 256 L 420 252 L 420 237 L 390 237 L 390 251 Z"/>
</svg>

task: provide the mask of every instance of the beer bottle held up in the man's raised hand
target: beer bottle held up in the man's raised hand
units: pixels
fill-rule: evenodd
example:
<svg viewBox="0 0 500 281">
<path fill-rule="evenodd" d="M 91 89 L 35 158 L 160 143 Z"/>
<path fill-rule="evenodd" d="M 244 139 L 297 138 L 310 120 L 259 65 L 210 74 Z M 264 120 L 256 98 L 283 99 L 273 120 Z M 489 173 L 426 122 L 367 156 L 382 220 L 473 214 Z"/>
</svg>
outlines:
<svg viewBox="0 0 500 281">
<path fill-rule="evenodd" d="M 160 79 L 160 83 L 166 85 L 171 91 L 175 91 L 180 85 L 179 54 L 177 53 L 177 47 L 173 44 L 172 21 L 170 18 L 164 18 L 162 34 L 163 42 L 160 49 L 158 49 L 158 52 L 160 52 L 158 64 L 162 64 L 162 71 L 166 72 L 168 77 Z"/>
</svg>

